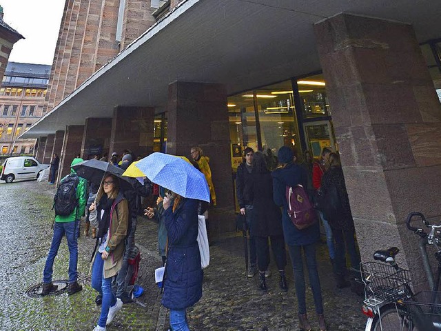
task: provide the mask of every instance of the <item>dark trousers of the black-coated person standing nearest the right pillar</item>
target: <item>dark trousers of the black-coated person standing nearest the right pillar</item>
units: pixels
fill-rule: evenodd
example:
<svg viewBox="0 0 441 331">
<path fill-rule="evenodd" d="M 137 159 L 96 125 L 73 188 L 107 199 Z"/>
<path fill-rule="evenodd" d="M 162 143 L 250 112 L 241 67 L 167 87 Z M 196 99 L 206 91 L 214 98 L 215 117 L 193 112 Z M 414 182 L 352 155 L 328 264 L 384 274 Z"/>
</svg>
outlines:
<svg viewBox="0 0 441 331">
<path fill-rule="evenodd" d="M 360 269 L 360 254 L 356 248 L 356 241 L 354 239 L 353 230 L 336 230 L 333 229 L 334 241 L 336 242 L 336 268 L 338 274 L 345 274 L 346 272 L 346 249 L 351 260 L 351 267 L 353 269 Z"/>
</svg>

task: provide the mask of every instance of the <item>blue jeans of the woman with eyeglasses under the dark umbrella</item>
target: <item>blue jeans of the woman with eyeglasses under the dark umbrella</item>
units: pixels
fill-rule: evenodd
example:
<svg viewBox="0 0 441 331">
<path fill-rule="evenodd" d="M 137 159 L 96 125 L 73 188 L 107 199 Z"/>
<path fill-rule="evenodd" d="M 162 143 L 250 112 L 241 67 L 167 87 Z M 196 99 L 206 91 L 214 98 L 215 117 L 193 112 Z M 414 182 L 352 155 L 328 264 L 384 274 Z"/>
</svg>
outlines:
<svg viewBox="0 0 441 331">
<path fill-rule="evenodd" d="M 109 257 L 110 258 L 110 257 Z M 98 325 L 105 328 L 107 321 L 107 314 L 109 308 L 116 303 L 116 297 L 112 292 L 112 277 L 104 278 L 104 260 L 101 253 L 96 253 L 94 265 L 92 267 L 92 288 L 103 296 L 101 303 L 101 315 L 98 320 Z"/>
</svg>

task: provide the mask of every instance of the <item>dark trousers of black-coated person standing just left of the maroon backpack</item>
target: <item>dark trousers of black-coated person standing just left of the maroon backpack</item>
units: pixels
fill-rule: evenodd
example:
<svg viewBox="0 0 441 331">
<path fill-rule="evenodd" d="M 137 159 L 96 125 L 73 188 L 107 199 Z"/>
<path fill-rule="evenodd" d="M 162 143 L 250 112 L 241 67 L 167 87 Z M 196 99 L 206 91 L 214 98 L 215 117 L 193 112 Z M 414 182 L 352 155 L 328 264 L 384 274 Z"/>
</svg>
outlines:
<svg viewBox="0 0 441 331">
<path fill-rule="evenodd" d="M 255 237 L 257 245 L 257 261 L 259 271 L 268 270 L 269 265 L 269 245 L 268 237 Z M 282 236 L 271 236 L 271 249 L 273 250 L 274 259 L 278 270 L 285 270 L 287 265 L 287 252 L 285 250 L 285 239 Z"/>
</svg>

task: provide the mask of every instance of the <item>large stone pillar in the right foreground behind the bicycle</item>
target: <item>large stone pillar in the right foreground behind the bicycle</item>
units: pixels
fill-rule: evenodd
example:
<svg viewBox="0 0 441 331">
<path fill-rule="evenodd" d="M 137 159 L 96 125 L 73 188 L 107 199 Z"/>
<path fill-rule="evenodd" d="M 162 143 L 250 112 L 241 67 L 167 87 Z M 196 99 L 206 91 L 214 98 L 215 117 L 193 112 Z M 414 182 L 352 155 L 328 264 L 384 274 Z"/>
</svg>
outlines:
<svg viewBox="0 0 441 331">
<path fill-rule="evenodd" d="M 441 215 L 441 106 L 415 32 L 350 14 L 315 32 L 362 259 L 395 245 L 421 288 L 418 238 L 405 221 Z"/>
</svg>

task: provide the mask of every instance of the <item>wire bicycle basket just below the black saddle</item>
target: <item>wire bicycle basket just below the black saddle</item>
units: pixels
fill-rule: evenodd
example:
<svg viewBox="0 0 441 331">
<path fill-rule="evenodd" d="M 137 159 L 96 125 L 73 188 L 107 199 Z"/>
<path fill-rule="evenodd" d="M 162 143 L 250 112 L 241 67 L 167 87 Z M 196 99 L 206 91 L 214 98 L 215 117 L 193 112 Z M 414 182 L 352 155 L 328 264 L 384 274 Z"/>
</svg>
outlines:
<svg viewBox="0 0 441 331">
<path fill-rule="evenodd" d="M 409 270 L 396 270 L 392 265 L 378 262 L 360 263 L 360 266 L 366 298 L 397 301 L 406 296 L 404 285 L 410 283 Z"/>
</svg>

